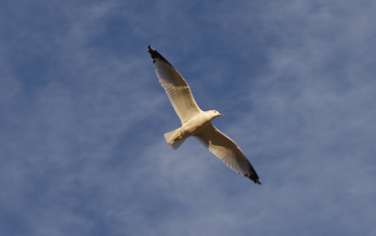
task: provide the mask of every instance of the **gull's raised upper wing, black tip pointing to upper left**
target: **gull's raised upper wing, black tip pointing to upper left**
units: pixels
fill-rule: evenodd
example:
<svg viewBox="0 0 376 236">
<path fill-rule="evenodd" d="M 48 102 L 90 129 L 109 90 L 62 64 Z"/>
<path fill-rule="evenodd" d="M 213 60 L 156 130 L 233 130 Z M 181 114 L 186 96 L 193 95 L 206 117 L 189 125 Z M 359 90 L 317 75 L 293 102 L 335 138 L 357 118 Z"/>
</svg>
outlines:
<svg viewBox="0 0 376 236">
<path fill-rule="evenodd" d="M 165 89 L 182 124 L 200 113 L 201 109 L 193 98 L 188 83 L 180 73 L 153 47 L 148 47 L 153 58 L 155 73 Z"/>
</svg>

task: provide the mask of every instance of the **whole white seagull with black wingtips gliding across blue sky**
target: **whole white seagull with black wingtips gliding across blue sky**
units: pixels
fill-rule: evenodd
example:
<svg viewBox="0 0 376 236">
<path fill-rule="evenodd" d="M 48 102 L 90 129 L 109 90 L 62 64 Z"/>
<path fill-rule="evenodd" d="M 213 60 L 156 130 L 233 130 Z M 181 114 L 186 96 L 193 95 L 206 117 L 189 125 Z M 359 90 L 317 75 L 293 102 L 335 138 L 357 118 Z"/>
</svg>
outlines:
<svg viewBox="0 0 376 236">
<path fill-rule="evenodd" d="M 194 136 L 233 171 L 261 184 L 239 146 L 211 124 L 215 117 L 223 114 L 216 110 L 202 111 L 180 73 L 153 47 L 148 48 L 159 82 L 182 123 L 181 127 L 164 134 L 167 144 L 176 150 L 186 138 Z"/>
</svg>

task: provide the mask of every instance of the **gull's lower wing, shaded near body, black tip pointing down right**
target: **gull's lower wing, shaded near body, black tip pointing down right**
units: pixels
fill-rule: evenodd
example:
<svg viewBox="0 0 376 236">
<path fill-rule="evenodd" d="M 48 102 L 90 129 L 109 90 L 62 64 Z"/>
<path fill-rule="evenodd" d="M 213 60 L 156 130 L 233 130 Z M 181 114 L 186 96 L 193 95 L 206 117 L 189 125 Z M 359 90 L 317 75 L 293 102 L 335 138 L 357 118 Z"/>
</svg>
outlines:
<svg viewBox="0 0 376 236">
<path fill-rule="evenodd" d="M 238 145 L 212 124 L 209 124 L 194 136 L 228 167 L 248 177 L 253 182 L 261 184 L 255 169 Z"/>
</svg>

